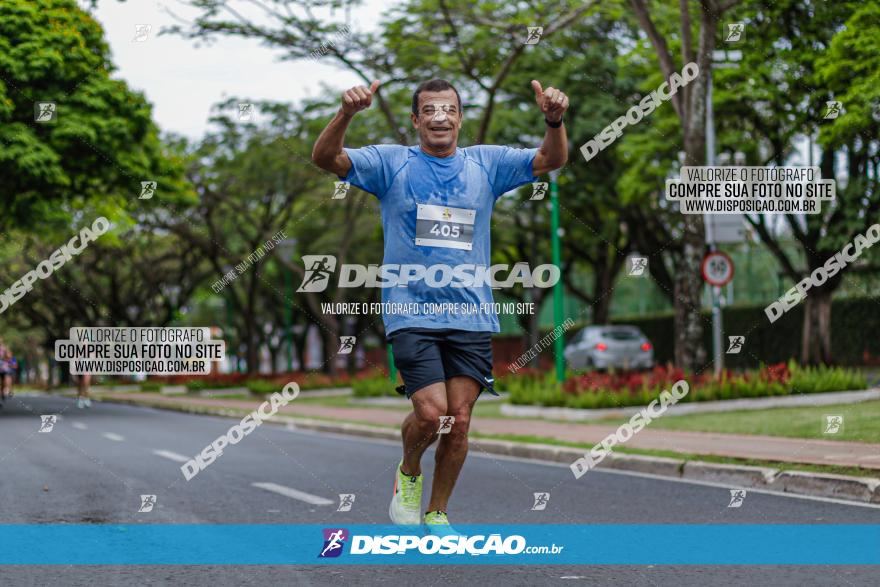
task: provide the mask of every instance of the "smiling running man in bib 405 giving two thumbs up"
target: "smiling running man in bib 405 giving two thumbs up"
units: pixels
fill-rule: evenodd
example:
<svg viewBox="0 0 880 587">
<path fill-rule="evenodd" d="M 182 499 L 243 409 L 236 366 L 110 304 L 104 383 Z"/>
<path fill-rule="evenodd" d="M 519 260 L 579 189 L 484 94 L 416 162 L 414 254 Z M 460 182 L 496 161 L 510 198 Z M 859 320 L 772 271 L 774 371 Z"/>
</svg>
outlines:
<svg viewBox="0 0 880 587">
<path fill-rule="evenodd" d="M 410 119 L 419 144 L 343 147 L 355 114 L 369 108 L 379 87 L 357 86 L 342 94 L 342 106 L 318 137 L 315 165 L 335 173 L 379 199 L 385 238 L 385 264 L 449 270 L 458 265 L 490 265 L 492 208 L 502 194 L 565 165 L 568 139 L 562 115 L 568 97 L 532 81 L 544 116 L 544 141 L 535 149 L 497 145 L 458 148 L 462 104 L 447 81 L 433 79 L 413 93 Z M 492 303 L 492 288 L 430 287 L 425 280 L 382 290 L 386 304 Z M 386 306 L 387 307 L 387 306 Z M 401 306 L 405 307 L 405 306 Z M 492 307 L 489 306 L 482 306 Z M 389 513 L 396 524 L 422 521 L 421 458 L 438 437 L 441 416 L 455 418 L 442 434 L 435 456 L 426 530 L 453 533 L 447 504 L 468 450 L 471 408 L 492 387 L 492 333 L 500 330 L 493 313 L 383 316 L 394 362 L 403 377 L 398 389 L 412 400 L 403 422 L 403 459 L 397 466 Z"/>
</svg>

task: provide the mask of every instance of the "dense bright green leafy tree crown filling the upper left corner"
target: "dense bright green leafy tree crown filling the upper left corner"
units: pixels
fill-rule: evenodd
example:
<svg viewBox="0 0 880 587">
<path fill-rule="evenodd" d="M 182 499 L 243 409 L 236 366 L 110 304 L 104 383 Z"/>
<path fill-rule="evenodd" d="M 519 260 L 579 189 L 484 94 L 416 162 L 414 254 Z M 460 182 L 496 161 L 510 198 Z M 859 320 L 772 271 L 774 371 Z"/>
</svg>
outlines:
<svg viewBox="0 0 880 587">
<path fill-rule="evenodd" d="M 64 222 L 62 204 L 124 205 L 141 181 L 173 191 L 149 104 L 112 70 L 103 30 L 74 0 L 0 3 L 0 231 Z M 37 122 L 49 103 L 54 119 Z"/>
</svg>

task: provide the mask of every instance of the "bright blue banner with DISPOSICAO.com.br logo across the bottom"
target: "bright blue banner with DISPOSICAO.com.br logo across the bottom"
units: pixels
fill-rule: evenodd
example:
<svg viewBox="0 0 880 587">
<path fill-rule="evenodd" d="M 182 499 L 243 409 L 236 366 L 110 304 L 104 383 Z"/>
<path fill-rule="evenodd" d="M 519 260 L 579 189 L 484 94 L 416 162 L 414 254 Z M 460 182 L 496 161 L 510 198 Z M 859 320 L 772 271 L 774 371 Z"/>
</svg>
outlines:
<svg viewBox="0 0 880 587">
<path fill-rule="evenodd" d="M 0 565 L 880 565 L 880 526 L 0 525 Z"/>
</svg>

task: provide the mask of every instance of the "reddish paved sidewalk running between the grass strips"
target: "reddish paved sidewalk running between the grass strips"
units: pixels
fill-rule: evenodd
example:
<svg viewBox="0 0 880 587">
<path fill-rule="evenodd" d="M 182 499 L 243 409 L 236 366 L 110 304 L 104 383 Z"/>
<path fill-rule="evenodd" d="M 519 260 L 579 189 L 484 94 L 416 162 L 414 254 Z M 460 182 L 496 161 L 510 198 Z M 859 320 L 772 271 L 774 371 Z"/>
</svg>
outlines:
<svg viewBox="0 0 880 587">
<path fill-rule="evenodd" d="M 102 394 L 101 397 L 136 403 L 167 405 L 168 407 L 182 405 L 242 411 L 254 410 L 261 403 L 258 400 L 206 399 L 189 396 L 165 397 L 145 393 L 109 393 Z M 296 402 L 284 406 L 279 413 L 288 416 L 329 418 L 395 427 L 400 426 L 405 415 L 400 410 L 319 406 L 297 404 Z M 616 426 L 610 425 L 569 424 L 527 419 L 474 418 L 471 421 L 471 431 L 480 434 L 540 436 L 584 444 L 599 443 L 616 429 Z M 713 432 L 681 432 L 651 429 L 648 426 L 633 436 L 626 443 L 626 446 L 695 455 L 715 455 L 786 463 L 857 466 L 880 470 L 880 445 L 858 442 L 779 436 L 746 436 Z"/>
</svg>

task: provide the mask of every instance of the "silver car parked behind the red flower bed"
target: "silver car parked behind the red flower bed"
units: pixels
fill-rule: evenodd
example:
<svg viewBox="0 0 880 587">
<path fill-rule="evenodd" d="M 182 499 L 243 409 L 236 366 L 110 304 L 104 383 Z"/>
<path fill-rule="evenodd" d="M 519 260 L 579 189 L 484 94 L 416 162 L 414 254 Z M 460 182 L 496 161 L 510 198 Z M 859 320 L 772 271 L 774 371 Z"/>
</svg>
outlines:
<svg viewBox="0 0 880 587">
<path fill-rule="evenodd" d="M 650 369 L 654 347 L 635 326 L 587 326 L 565 347 L 570 369 Z"/>
</svg>

